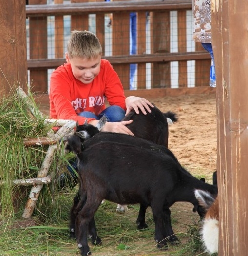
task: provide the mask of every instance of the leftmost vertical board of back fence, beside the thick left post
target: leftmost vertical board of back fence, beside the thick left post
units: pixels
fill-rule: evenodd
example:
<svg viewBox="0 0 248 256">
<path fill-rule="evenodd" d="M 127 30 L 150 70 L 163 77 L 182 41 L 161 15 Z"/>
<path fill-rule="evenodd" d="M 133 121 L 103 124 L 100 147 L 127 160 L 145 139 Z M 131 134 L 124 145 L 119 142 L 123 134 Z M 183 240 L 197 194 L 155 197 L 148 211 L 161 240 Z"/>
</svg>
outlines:
<svg viewBox="0 0 248 256">
<path fill-rule="evenodd" d="M 46 4 L 47 0 L 29 0 L 29 4 Z M 30 59 L 47 59 L 47 17 L 29 18 Z M 47 92 L 47 69 L 30 70 L 32 92 Z"/>
</svg>

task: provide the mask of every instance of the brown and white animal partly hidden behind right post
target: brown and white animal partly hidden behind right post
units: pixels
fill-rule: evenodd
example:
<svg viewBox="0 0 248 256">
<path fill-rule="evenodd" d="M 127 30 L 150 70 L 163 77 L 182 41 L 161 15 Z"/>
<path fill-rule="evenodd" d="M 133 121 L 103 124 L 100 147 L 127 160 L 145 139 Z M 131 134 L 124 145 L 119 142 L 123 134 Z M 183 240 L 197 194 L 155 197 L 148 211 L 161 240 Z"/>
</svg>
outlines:
<svg viewBox="0 0 248 256">
<path fill-rule="evenodd" d="M 214 198 L 209 192 L 195 190 L 195 197 L 199 204 L 207 209 L 201 229 L 201 238 L 205 250 L 210 254 L 218 252 L 219 242 L 219 199 Z"/>
</svg>

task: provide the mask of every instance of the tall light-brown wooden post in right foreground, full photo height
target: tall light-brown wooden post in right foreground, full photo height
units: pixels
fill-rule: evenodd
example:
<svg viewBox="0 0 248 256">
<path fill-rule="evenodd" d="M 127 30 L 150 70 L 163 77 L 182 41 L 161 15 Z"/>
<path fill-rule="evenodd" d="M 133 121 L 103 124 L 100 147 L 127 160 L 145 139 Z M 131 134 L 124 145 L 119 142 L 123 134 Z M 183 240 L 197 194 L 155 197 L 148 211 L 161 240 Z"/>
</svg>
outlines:
<svg viewBox="0 0 248 256">
<path fill-rule="evenodd" d="M 219 255 L 248 254 L 248 2 L 212 1 Z"/>
</svg>

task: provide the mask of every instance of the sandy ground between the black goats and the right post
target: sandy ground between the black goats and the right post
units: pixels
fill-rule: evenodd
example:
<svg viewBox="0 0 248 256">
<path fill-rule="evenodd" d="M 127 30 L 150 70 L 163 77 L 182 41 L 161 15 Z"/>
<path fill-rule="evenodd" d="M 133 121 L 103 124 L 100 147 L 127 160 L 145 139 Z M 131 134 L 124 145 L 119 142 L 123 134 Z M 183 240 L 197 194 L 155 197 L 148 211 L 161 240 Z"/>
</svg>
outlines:
<svg viewBox="0 0 248 256">
<path fill-rule="evenodd" d="M 217 130 L 215 94 L 153 99 L 162 111 L 173 111 L 178 122 L 169 127 L 169 148 L 193 175 L 211 182 L 216 170 Z"/>
</svg>

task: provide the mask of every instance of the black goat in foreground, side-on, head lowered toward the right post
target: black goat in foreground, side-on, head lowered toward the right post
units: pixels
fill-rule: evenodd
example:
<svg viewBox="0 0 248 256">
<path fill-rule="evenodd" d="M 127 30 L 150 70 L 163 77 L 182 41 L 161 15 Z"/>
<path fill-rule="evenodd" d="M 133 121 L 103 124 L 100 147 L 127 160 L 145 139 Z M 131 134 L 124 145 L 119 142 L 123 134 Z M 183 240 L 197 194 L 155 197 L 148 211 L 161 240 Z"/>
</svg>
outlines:
<svg viewBox="0 0 248 256">
<path fill-rule="evenodd" d="M 119 204 L 151 206 L 155 240 L 161 248 L 166 246 L 166 239 L 170 242 L 178 240 L 170 219 L 169 207 L 173 203 L 191 202 L 194 209 L 199 210 L 202 207 L 194 195 L 195 189 L 217 194 L 216 186 L 193 177 L 170 150 L 163 147 L 163 153 L 158 154 L 148 149 L 150 142 L 140 146 L 137 141 L 141 138 L 128 136 L 130 143 L 127 144 L 102 141 L 101 138 L 97 140 L 99 135 L 96 134 L 83 145 L 76 134 L 67 142 L 67 148 L 75 152 L 79 159 L 81 200 L 72 211 L 76 216 L 76 236 L 82 255 L 90 255 L 87 232 L 94 244 L 101 243 L 96 233 L 94 214 L 103 199 Z M 142 143 L 145 145 L 146 141 Z M 204 209 L 201 211 L 204 212 Z"/>
</svg>

